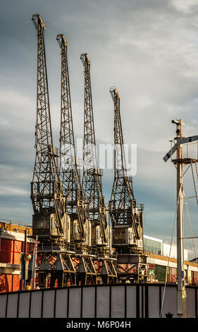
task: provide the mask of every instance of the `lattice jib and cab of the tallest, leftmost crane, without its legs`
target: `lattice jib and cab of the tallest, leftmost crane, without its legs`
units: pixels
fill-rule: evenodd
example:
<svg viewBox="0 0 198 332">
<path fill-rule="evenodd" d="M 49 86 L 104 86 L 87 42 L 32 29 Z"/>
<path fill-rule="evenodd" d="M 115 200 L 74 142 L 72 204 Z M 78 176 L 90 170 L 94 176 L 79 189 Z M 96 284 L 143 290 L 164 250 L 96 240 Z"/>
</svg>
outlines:
<svg viewBox="0 0 198 332">
<path fill-rule="evenodd" d="M 35 126 L 35 169 L 31 184 L 34 210 L 33 234 L 65 237 L 65 198 L 56 167 L 56 149 L 51 134 L 49 90 L 44 48 L 44 22 L 39 14 L 32 16 L 37 30 L 37 119 Z"/>
</svg>

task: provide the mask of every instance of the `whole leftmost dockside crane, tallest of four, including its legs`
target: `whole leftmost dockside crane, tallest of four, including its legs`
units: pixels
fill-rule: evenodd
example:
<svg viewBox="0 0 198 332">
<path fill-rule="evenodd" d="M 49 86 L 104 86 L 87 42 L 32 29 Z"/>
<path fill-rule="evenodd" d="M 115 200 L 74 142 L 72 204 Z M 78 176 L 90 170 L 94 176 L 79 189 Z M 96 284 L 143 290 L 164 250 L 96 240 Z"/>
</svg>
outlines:
<svg viewBox="0 0 198 332">
<path fill-rule="evenodd" d="M 45 26 L 39 14 L 34 14 L 32 21 L 37 30 L 37 120 L 35 169 L 31 184 L 34 210 L 32 232 L 39 240 L 37 272 L 40 286 L 45 287 L 48 278 L 51 286 L 56 278 L 58 285 L 65 284 L 68 278 L 71 283 L 75 283 L 75 271 L 70 259 L 74 248 L 70 247 L 70 218 L 66 213 L 66 199 L 56 164 L 58 149 L 54 148 L 52 141 L 44 47 Z"/>
</svg>

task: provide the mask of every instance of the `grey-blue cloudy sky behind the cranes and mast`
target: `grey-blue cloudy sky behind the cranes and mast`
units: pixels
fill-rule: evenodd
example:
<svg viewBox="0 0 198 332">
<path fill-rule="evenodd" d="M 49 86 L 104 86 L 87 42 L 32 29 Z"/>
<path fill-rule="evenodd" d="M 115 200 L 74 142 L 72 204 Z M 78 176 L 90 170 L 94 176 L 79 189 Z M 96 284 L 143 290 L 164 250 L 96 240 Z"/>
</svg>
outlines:
<svg viewBox="0 0 198 332">
<path fill-rule="evenodd" d="M 125 143 L 137 144 L 135 197 L 144 203 L 144 233 L 170 241 L 175 216 L 175 167 L 162 158 L 175 136 L 198 123 L 198 3 L 194 0 L 0 0 L 0 218 L 31 223 L 30 182 L 35 161 L 37 38 L 33 13 L 45 23 L 45 45 L 54 145 L 60 121 L 60 50 L 68 40 L 75 137 L 83 135 L 84 77 L 80 54 L 91 61 L 97 142 L 113 143 L 113 102 L 120 94 Z M 109 201 L 111 170 L 103 187 Z M 192 175 L 186 175 L 193 195 Z M 194 236 L 197 206 L 189 201 Z M 190 236 L 187 220 L 185 235 Z M 198 242 L 197 242 L 198 244 Z M 186 241 L 185 247 L 192 248 Z M 197 250 L 198 251 L 198 250 Z"/>
</svg>

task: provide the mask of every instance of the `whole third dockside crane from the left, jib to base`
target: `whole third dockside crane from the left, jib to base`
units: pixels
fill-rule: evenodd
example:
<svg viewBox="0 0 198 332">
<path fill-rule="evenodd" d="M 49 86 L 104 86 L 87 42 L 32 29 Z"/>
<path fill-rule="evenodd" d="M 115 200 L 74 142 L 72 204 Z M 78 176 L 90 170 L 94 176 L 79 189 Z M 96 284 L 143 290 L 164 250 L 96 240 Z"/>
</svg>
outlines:
<svg viewBox="0 0 198 332">
<path fill-rule="evenodd" d="M 87 53 L 81 54 L 80 59 L 82 60 L 85 74 L 85 124 L 82 186 L 87 202 L 88 218 L 92 223 L 92 245 L 98 250 L 101 278 L 105 283 L 109 283 L 115 282 L 117 275 L 111 256 L 111 230 L 107 222 L 106 205 L 102 194 L 102 172 L 101 169 L 97 167 L 90 61 Z"/>
</svg>

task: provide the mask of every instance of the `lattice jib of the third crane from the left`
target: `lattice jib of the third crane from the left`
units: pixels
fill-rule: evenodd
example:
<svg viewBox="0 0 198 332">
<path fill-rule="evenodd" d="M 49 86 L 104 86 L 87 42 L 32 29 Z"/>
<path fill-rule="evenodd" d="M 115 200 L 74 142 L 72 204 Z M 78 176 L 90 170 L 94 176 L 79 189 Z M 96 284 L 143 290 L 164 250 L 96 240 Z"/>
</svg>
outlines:
<svg viewBox="0 0 198 332">
<path fill-rule="evenodd" d="M 89 220 L 92 221 L 92 225 L 100 226 L 101 244 L 106 245 L 109 238 L 109 230 L 107 225 L 106 206 L 101 188 L 101 170 L 97 167 L 92 90 L 90 81 L 90 61 L 87 54 L 81 54 L 80 59 L 82 60 L 85 74 L 85 126 L 82 186 L 88 205 Z"/>
</svg>

